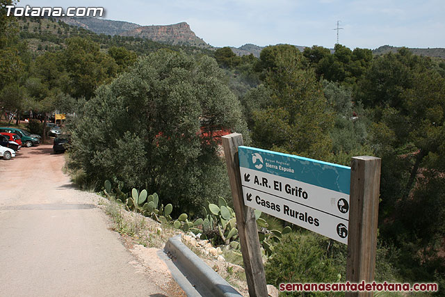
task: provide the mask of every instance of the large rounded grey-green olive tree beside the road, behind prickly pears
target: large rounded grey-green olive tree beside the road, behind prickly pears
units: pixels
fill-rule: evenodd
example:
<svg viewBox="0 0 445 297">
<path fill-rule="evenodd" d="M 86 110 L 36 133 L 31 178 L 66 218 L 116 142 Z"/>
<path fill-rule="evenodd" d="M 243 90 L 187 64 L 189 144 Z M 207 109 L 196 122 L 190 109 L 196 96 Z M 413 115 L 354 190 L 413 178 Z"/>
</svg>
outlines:
<svg viewBox="0 0 445 297">
<path fill-rule="evenodd" d="M 216 133 L 248 134 L 222 79 L 207 56 L 161 50 L 140 58 L 86 102 L 72 126 L 73 163 L 90 179 L 161 193 L 181 211 L 225 195 Z"/>
</svg>

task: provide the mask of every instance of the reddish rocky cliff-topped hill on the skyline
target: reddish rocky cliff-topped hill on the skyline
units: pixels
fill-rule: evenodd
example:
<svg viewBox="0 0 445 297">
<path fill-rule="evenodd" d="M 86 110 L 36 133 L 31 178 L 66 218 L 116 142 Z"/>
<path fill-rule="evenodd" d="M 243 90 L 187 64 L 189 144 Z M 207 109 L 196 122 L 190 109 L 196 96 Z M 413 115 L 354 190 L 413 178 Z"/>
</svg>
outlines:
<svg viewBox="0 0 445 297">
<path fill-rule="evenodd" d="M 120 33 L 121 36 L 147 38 L 157 42 L 167 42 L 173 45 L 195 45 L 209 47 L 206 42 L 198 38 L 186 22 L 165 26 L 140 26 Z"/>
</svg>

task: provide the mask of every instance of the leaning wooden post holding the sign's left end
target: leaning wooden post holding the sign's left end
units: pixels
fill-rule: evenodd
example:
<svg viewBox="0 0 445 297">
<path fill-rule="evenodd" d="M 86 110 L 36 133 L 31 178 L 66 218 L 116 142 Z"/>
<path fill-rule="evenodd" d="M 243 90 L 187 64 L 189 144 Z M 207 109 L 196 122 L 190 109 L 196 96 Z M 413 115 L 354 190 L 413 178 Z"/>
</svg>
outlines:
<svg viewBox="0 0 445 297">
<path fill-rule="evenodd" d="M 248 281 L 249 296 L 267 297 L 266 275 L 264 274 L 261 246 L 259 244 L 257 220 L 254 209 L 246 207 L 239 172 L 238 146 L 243 145 L 243 136 L 238 133 L 222 137 L 229 172 L 230 187 L 234 199 L 236 227 L 243 253 L 245 277 Z"/>
</svg>

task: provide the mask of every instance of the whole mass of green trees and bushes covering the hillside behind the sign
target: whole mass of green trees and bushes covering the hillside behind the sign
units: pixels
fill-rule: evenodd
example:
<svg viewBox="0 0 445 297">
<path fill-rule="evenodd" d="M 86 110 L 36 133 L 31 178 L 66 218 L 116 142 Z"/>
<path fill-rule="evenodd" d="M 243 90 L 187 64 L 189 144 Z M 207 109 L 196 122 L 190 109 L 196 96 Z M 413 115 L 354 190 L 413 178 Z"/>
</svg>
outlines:
<svg viewBox="0 0 445 297">
<path fill-rule="evenodd" d="M 209 203 L 233 206 L 219 131 L 242 133 L 252 147 L 346 166 L 352 156 L 378 156 L 376 280 L 437 282 L 439 292 L 413 296 L 445 296 L 441 59 L 343 45 L 333 53 L 275 45 L 259 58 L 237 56 L 229 47 L 209 51 L 14 19 L 2 9 L 0 78 L 2 116 L 73 114 L 65 127 L 68 166 L 84 185 L 102 191 L 108 179 L 126 203 L 132 188 L 157 193 L 159 204 L 172 204 L 169 215 L 186 213 L 192 227 L 211 215 Z M 264 214 L 258 222 L 260 232 L 268 230 L 269 283 L 345 281 L 346 246 Z M 206 236 L 237 252 L 235 232 L 218 231 L 228 224 L 212 221 Z"/>
</svg>

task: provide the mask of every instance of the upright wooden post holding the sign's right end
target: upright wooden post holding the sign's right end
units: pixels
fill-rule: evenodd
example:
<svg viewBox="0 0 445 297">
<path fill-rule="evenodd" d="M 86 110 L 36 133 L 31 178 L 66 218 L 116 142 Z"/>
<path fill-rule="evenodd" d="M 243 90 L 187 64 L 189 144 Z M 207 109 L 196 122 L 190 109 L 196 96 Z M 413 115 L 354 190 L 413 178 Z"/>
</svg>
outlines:
<svg viewBox="0 0 445 297">
<path fill-rule="evenodd" d="M 350 172 L 350 213 L 346 280 L 373 282 L 377 249 L 381 159 L 355 156 Z M 346 297 L 373 296 L 373 292 L 346 292 Z"/>
</svg>

